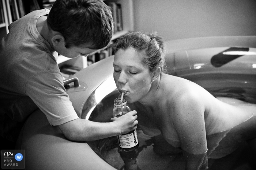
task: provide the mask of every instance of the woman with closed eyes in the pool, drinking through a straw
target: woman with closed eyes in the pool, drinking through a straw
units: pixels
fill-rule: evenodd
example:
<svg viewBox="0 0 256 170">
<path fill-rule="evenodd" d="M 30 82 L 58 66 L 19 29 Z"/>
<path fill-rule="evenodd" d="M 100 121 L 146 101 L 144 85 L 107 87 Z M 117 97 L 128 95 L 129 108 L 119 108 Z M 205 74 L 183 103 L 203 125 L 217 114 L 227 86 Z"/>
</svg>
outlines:
<svg viewBox="0 0 256 170">
<path fill-rule="evenodd" d="M 165 70 L 165 46 L 156 34 L 131 32 L 116 42 L 114 80 L 138 112 L 145 134 L 161 135 L 182 151 L 186 169 L 208 169 L 247 141 L 256 146 L 256 104 L 215 98 Z M 161 146 L 160 146 L 161 147 Z"/>
</svg>

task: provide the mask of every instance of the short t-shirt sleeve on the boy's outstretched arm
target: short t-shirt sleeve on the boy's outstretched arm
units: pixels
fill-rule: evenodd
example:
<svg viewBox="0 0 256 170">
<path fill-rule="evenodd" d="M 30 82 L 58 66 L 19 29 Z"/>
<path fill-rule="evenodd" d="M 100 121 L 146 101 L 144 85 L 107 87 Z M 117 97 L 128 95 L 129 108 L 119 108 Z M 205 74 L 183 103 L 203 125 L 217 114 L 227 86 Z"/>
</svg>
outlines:
<svg viewBox="0 0 256 170">
<path fill-rule="evenodd" d="M 79 118 L 56 70 L 44 70 L 29 78 L 25 92 L 53 126 Z"/>
</svg>

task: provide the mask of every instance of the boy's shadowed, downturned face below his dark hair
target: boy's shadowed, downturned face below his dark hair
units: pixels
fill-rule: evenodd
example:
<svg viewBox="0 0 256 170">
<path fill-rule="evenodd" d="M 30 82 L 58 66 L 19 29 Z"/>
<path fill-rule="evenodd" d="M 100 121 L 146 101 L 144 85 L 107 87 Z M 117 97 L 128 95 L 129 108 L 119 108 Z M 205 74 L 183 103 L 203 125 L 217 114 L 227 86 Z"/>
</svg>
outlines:
<svg viewBox="0 0 256 170">
<path fill-rule="evenodd" d="M 67 58 L 76 58 L 79 55 L 87 56 L 98 50 L 89 48 L 89 45 L 80 45 L 80 46 L 72 46 L 70 48 L 66 48 L 65 46 L 62 46 L 59 49 L 56 49 L 56 51 Z"/>
</svg>

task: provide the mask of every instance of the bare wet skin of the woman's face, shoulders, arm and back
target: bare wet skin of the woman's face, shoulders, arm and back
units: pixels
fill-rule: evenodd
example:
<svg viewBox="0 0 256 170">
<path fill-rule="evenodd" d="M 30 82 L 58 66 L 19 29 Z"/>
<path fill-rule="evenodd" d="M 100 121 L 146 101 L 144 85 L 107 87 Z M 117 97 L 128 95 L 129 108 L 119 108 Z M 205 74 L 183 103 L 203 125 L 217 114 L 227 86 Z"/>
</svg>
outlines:
<svg viewBox="0 0 256 170">
<path fill-rule="evenodd" d="M 125 92 L 127 102 L 134 103 L 139 124 L 159 129 L 174 147 L 181 147 L 186 153 L 203 154 L 207 151 L 206 135 L 231 129 L 256 115 L 256 104 L 219 100 L 189 80 L 151 73 L 140 57 L 132 48 L 116 52 L 113 63 L 116 86 L 119 92 Z M 144 129 L 144 133 L 154 136 L 149 129 Z M 248 131 L 253 133 L 256 129 Z M 196 169 L 198 165 L 191 159 L 186 166 Z"/>
</svg>

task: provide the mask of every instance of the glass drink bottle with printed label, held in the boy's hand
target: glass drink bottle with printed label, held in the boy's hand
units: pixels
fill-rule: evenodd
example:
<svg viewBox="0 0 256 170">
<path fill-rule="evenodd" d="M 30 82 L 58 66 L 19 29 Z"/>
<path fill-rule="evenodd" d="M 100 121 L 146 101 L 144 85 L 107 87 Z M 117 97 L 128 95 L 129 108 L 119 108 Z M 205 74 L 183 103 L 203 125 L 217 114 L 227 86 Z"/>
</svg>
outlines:
<svg viewBox="0 0 256 170">
<path fill-rule="evenodd" d="M 113 109 L 113 118 L 120 117 L 126 113 L 132 111 L 131 108 L 126 103 L 126 100 L 121 98 L 114 99 L 114 109 Z M 139 141 L 137 137 L 136 129 L 130 131 L 127 134 L 118 135 L 118 143 L 121 151 L 132 151 L 139 147 Z"/>
</svg>

